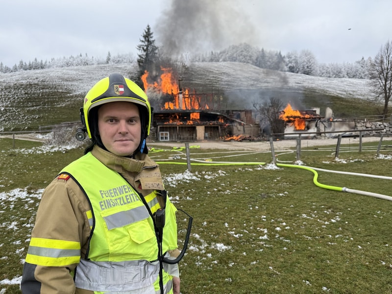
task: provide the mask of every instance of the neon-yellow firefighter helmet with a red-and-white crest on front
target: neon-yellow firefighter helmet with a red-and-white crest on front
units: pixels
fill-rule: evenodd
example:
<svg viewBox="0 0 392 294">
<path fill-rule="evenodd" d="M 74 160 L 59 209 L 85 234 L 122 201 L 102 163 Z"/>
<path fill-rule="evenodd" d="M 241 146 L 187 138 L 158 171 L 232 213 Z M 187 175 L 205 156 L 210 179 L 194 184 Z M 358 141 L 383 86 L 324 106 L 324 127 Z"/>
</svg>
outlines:
<svg viewBox="0 0 392 294">
<path fill-rule="evenodd" d="M 96 134 L 98 134 L 98 124 L 96 112 L 97 106 L 109 102 L 126 101 L 135 103 L 140 112 L 142 123 L 141 152 L 143 152 L 146 138 L 150 132 L 151 126 L 151 106 L 146 93 L 133 81 L 125 78 L 120 73 L 112 73 L 108 77 L 99 80 L 84 98 L 83 108 L 80 108 L 80 116 L 85 130 L 94 143 L 99 143 Z M 94 115 L 92 115 L 95 113 Z"/>
</svg>

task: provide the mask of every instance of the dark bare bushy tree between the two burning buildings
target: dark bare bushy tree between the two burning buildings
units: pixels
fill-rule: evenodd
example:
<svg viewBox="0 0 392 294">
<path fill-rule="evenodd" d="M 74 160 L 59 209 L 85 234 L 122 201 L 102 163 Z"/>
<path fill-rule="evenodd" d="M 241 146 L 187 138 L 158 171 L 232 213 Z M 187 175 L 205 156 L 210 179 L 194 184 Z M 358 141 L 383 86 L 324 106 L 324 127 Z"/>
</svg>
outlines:
<svg viewBox="0 0 392 294">
<path fill-rule="evenodd" d="M 253 102 L 253 107 L 260 114 L 262 120 L 266 120 L 271 129 L 271 133 L 283 133 L 284 121 L 279 118 L 283 110 L 283 102 L 279 98 L 271 97 L 262 103 Z"/>
</svg>

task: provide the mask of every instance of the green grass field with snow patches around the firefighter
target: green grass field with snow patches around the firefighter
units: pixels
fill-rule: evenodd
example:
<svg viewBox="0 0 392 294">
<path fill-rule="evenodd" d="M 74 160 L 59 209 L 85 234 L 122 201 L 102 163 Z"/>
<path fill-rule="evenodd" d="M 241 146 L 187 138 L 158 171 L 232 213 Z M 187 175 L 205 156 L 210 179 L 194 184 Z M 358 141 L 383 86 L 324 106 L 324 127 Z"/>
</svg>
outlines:
<svg viewBox="0 0 392 294">
<path fill-rule="evenodd" d="M 392 176 L 390 141 L 344 149 L 303 148 L 304 165 L 333 171 Z M 190 144 L 192 145 L 192 144 Z M 0 293 L 20 293 L 9 281 L 23 260 L 42 189 L 83 149 L 45 149 L 41 143 L 0 139 Z M 192 148 L 207 165 L 187 171 L 185 150 L 153 146 L 174 204 L 193 218 L 180 262 L 182 294 L 392 293 L 391 202 L 323 189 L 312 172 L 274 167 L 270 152 Z M 294 164 L 295 152 L 277 154 Z M 174 155 L 177 155 L 174 157 Z M 173 159 L 169 159 L 173 158 Z M 214 162 L 232 162 L 230 165 Z M 165 162 L 165 163 L 163 163 Z M 245 165 L 260 162 L 263 165 Z M 391 180 L 318 172 L 324 185 L 392 196 Z M 187 216 L 177 213 L 179 247 Z M 11 284 L 11 285 L 10 285 Z"/>
</svg>

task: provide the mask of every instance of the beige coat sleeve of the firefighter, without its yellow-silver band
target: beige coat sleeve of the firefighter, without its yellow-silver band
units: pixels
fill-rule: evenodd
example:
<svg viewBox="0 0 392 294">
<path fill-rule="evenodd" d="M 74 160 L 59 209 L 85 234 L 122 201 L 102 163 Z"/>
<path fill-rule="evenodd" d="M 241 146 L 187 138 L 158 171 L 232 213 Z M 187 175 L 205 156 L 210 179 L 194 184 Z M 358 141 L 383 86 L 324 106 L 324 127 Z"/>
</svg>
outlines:
<svg viewBox="0 0 392 294">
<path fill-rule="evenodd" d="M 90 205 L 79 186 L 72 178 L 54 179 L 45 189 L 38 207 L 31 237 L 79 242 L 81 254 L 86 252 L 90 226 L 86 211 Z M 30 281 L 30 287 L 22 287 L 23 293 L 75 293 L 71 271 L 77 264 L 65 267 L 44 267 L 25 265 L 24 277 L 40 282 Z M 33 272 L 29 272 L 33 270 Z M 35 286 L 34 286 L 35 285 Z M 39 292 L 34 290 L 38 290 Z M 31 288 L 31 289 L 29 289 Z M 37 289 L 35 289 L 37 288 Z M 31 291 L 31 292 L 30 292 Z"/>
</svg>

